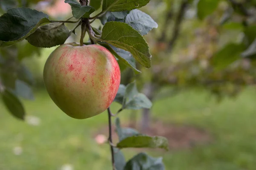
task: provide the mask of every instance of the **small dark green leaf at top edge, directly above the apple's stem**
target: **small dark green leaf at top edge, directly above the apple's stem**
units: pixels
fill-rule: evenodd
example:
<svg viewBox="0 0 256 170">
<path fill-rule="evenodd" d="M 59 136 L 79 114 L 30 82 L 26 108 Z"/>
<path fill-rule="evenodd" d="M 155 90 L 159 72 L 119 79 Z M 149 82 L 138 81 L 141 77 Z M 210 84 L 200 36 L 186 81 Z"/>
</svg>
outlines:
<svg viewBox="0 0 256 170">
<path fill-rule="evenodd" d="M 90 14 L 95 11 L 92 6 L 81 6 L 81 4 L 76 0 L 65 0 L 65 3 L 70 4 L 73 16 L 78 19 L 81 17 L 88 18 Z"/>
</svg>

